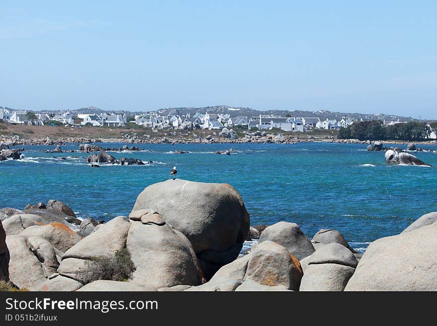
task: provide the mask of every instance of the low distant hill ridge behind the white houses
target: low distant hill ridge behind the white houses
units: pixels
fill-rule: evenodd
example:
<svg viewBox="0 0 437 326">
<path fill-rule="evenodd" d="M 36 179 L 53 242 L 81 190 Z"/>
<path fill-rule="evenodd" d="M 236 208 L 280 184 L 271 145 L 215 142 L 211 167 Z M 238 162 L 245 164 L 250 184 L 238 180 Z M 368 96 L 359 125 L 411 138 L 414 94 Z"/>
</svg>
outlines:
<svg viewBox="0 0 437 326">
<path fill-rule="evenodd" d="M 2 108 L 2 107 L 0 107 Z M 10 108 L 7 108 L 9 110 L 12 110 Z M 32 111 L 32 110 L 31 110 Z M 36 113 L 56 113 L 61 112 L 65 110 L 40 110 L 40 111 L 34 111 Z M 158 115 L 166 116 L 168 114 L 177 114 L 179 111 L 179 114 L 181 116 L 185 116 L 187 113 L 190 114 L 191 117 L 193 117 L 197 112 L 200 113 L 223 113 L 223 114 L 229 114 L 231 117 L 237 117 L 237 116 L 243 116 L 243 117 L 257 117 L 260 114 L 261 115 L 275 115 L 275 116 L 282 116 L 285 117 L 287 115 L 290 115 L 291 117 L 318 117 L 320 120 L 325 119 L 347 119 L 352 118 L 355 120 L 398 120 L 401 122 L 405 121 L 419 121 L 418 119 L 413 119 L 412 117 L 402 117 L 402 116 L 395 116 L 395 115 L 387 115 L 387 114 L 363 114 L 363 113 L 346 113 L 346 112 L 332 112 L 327 110 L 319 110 L 319 111 L 302 111 L 302 110 L 255 110 L 251 108 L 246 107 L 231 107 L 228 105 L 216 105 L 216 106 L 207 106 L 203 108 L 189 108 L 189 107 L 180 107 L 180 108 L 166 108 L 166 109 L 159 109 L 156 111 L 127 111 L 127 110 L 103 110 L 99 109 L 93 106 L 87 107 L 87 108 L 80 108 L 80 109 L 73 109 L 69 110 L 73 115 L 77 114 L 86 114 L 86 113 L 93 113 L 93 114 L 102 114 L 104 112 L 106 113 L 116 113 L 116 114 L 125 114 L 128 117 L 133 117 L 135 115 L 139 115 L 142 113 L 157 113 Z M 427 122 L 428 120 L 424 120 L 424 122 Z"/>
</svg>

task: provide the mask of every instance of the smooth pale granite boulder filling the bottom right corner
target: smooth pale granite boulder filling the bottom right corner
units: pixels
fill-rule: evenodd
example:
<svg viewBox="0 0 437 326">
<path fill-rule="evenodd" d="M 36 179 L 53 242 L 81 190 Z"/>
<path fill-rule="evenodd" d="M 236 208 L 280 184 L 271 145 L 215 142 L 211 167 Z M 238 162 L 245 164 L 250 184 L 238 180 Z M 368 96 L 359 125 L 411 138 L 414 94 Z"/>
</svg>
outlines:
<svg viewBox="0 0 437 326">
<path fill-rule="evenodd" d="M 346 291 L 437 291 L 437 223 L 372 242 Z"/>
</svg>

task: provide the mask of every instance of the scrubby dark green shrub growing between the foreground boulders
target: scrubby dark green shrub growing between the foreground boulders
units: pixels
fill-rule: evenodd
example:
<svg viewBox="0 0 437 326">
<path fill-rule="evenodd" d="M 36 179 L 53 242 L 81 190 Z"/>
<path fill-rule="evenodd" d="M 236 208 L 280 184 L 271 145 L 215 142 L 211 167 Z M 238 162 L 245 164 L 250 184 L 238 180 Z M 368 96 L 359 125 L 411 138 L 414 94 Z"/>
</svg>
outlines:
<svg viewBox="0 0 437 326">
<path fill-rule="evenodd" d="M 126 282 L 136 269 L 126 248 L 117 250 L 113 257 L 100 257 L 87 263 L 88 282 L 99 279 Z"/>
</svg>

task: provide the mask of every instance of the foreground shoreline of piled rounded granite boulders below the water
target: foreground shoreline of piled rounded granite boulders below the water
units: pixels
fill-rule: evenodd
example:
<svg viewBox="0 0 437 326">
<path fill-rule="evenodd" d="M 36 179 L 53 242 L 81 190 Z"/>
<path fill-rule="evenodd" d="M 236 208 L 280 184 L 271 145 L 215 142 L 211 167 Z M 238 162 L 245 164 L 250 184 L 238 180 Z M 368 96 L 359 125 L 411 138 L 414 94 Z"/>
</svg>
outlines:
<svg viewBox="0 0 437 326">
<path fill-rule="evenodd" d="M 127 215 L 80 221 L 56 200 L 0 209 L 0 279 L 30 291 L 437 291 L 437 212 L 364 255 L 336 230 L 310 240 L 295 223 L 250 226 L 227 184 L 153 184 Z M 258 243 L 241 256 L 247 239 Z"/>
</svg>

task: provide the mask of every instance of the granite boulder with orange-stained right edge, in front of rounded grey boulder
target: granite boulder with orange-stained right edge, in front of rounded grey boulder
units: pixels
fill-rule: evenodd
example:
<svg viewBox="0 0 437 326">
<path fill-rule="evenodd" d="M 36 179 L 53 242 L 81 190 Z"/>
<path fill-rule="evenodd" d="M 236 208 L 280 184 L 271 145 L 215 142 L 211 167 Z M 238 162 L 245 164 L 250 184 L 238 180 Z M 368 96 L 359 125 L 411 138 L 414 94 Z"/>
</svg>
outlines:
<svg viewBox="0 0 437 326">
<path fill-rule="evenodd" d="M 259 243 L 250 256 L 245 280 L 268 286 L 284 285 L 294 291 L 299 289 L 303 274 L 300 263 L 285 247 L 266 240 Z"/>
</svg>

